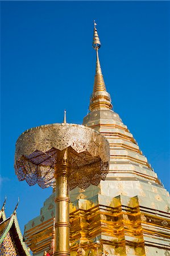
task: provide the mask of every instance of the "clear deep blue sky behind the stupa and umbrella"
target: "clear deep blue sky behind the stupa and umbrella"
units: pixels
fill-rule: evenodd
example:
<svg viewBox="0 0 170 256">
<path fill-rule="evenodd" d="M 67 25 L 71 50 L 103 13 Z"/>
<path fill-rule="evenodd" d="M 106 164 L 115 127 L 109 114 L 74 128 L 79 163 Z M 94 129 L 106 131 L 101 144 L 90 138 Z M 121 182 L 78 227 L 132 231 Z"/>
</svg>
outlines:
<svg viewBox="0 0 170 256">
<path fill-rule="evenodd" d="M 169 185 L 168 1 L 1 1 L 1 205 L 20 197 L 24 224 L 52 189 L 29 187 L 14 173 L 15 142 L 30 127 L 82 123 L 93 89 L 93 19 L 102 72 L 115 112 Z"/>
</svg>

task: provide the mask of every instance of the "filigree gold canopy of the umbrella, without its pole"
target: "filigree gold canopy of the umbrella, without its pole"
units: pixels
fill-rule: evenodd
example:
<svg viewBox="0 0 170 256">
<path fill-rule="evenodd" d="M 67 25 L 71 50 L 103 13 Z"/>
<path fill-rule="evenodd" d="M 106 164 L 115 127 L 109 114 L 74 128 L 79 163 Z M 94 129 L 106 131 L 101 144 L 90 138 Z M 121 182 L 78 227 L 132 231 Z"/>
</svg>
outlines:
<svg viewBox="0 0 170 256">
<path fill-rule="evenodd" d="M 69 123 L 38 126 L 20 135 L 14 165 L 18 179 L 42 188 L 55 187 L 54 167 L 66 148 L 70 190 L 105 180 L 110 158 L 107 139 L 89 127 Z"/>
</svg>

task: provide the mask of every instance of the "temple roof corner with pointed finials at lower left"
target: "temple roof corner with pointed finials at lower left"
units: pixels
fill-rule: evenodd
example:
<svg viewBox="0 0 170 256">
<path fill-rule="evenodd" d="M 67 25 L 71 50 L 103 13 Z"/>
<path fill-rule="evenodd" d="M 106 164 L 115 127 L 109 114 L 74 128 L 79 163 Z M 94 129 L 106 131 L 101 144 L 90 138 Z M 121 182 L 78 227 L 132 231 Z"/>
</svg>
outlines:
<svg viewBox="0 0 170 256">
<path fill-rule="evenodd" d="M 30 256 L 20 232 L 16 208 L 10 217 L 6 218 L 5 205 L 0 210 L 0 255 Z"/>
</svg>

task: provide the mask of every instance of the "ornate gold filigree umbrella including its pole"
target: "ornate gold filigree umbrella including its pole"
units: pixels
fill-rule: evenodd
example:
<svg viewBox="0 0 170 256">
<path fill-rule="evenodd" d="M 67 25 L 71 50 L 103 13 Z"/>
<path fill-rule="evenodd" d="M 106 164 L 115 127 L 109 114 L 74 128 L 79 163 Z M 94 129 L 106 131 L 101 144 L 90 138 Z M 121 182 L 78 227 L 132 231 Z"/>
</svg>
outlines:
<svg viewBox="0 0 170 256">
<path fill-rule="evenodd" d="M 55 254 L 69 255 L 69 189 L 105 180 L 109 143 L 88 127 L 55 123 L 32 128 L 16 142 L 15 173 L 29 185 L 56 187 Z"/>
</svg>

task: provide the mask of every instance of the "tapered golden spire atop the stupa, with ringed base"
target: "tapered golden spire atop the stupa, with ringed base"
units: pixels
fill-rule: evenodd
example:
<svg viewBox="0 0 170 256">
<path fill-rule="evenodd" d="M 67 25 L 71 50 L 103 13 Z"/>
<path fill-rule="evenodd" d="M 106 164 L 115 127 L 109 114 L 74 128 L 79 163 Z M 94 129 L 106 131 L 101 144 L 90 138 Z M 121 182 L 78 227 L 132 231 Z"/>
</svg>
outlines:
<svg viewBox="0 0 170 256">
<path fill-rule="evenodd" d="M 90 99 L 90 111 L 97 109 L 111 109 L 111 99 L 109 93 L 106 92 L 105 81 L 103 79 L 101 65 L 99 63 L 98 49 L 101 47 L 99 36 L 97 33 L 96 22 L 94 20 L 93 48 L 96 50 L 96 75 L 94 77 L 93 94 Z"/>
</svg>

